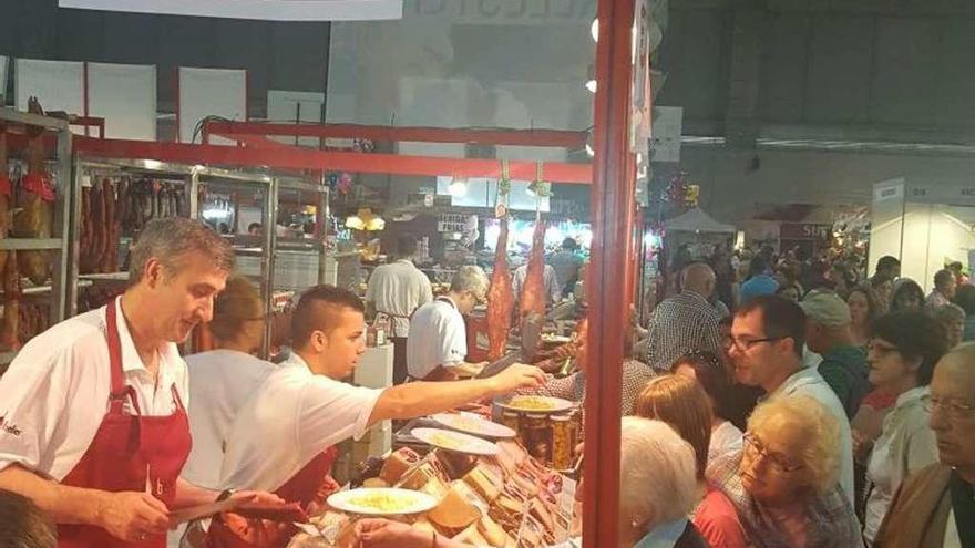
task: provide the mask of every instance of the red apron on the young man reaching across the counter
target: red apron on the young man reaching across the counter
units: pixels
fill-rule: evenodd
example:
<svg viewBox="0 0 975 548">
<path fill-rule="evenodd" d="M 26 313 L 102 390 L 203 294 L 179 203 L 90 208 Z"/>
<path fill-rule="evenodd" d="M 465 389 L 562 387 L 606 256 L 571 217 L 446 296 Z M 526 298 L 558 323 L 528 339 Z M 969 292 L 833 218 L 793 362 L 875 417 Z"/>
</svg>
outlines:
<svg viewBox="0 0 975 548">
<path fill-rule="evenodd" d="M 299 503 L 301 508 L 308 510 L 311 503 L 322 504 L 331 495 L 328 489 L 330 484 L 329 473 L 335 463 L 338 451 L 329 447 L 319 453 L 300 471 L 298 471 L 285 485 L 275 490 L 275 495 L 285 499 L 286 503 Z M 206 548 L 285 548 L 291 537 L 298 533 L 294 525 L 281 526 L 278 524 L 261 523 L 258 519 L 249 520 L 253 535 L 260 540 L 249 541 L 235 534 L 222 519 L 216 518 L 206 534 Z M 260 530 L 264 529 L 264 530 Z"/>
</svg>

